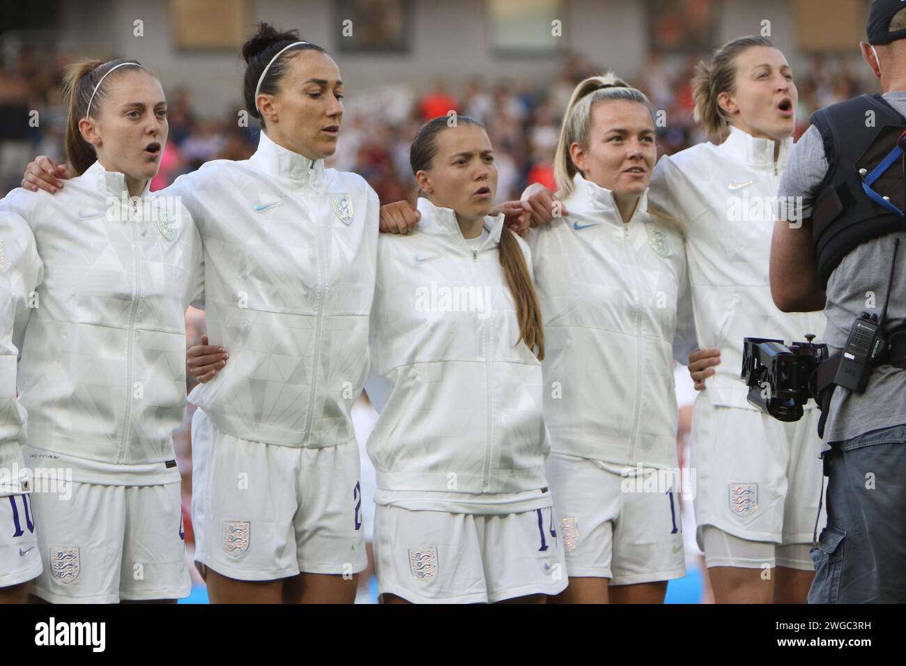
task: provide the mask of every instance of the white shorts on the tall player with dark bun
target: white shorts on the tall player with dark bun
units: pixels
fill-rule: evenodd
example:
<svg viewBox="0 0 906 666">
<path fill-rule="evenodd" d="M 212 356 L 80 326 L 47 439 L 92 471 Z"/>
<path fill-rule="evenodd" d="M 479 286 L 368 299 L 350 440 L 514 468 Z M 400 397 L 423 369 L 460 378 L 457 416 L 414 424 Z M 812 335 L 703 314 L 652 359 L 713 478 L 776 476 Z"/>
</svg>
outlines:
<svg viewBox="0 0 906 666">
<path fill-rule="evenodd" d="M 323 449 L 249 441 L 192 417 L 195 559 L 241 581 L 356 574 L 362 536 L 359 445 Z"/>
</svg>

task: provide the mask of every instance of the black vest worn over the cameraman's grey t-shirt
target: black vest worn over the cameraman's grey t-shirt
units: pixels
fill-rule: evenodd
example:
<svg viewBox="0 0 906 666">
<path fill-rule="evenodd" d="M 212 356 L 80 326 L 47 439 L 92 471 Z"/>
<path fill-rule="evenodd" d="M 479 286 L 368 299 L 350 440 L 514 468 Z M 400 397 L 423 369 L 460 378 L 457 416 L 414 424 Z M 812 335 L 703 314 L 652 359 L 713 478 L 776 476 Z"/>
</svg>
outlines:
<svg viewBox="0 0 906 666">
<path fill-rule="evenodd" d="M 866 127 L 873 111 L 872 127 Z M 881 95 L 861 95 L 815 111 L 812 124 L 821 132 L 828 169 L 814 199 L 812 215 L 818 279 L 824 288 L 834 268 L 855 246 L 906 230 L 906 217 L 883 208 L 863 190 L 859 169 L 871 172 L 896 146 L 906 119 Z M 903 159 L 894 163 L 872 189 L 906 210 Z"/>
</svg>

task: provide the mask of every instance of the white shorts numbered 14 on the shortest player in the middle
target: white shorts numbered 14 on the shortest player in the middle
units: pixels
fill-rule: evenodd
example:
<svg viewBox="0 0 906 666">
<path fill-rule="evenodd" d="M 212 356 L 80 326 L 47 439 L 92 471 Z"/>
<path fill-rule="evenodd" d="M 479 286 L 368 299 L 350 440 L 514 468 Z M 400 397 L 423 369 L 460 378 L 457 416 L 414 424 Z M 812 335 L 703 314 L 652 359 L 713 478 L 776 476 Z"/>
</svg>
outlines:
<svg viewBox="0 0 906 666">
<path fill-rule="evenodd" d="M 495 603 L 566 589 L 553 509 L 450 514 L 377 507 L 378 594 L 412 603 Z"/>
</svg>

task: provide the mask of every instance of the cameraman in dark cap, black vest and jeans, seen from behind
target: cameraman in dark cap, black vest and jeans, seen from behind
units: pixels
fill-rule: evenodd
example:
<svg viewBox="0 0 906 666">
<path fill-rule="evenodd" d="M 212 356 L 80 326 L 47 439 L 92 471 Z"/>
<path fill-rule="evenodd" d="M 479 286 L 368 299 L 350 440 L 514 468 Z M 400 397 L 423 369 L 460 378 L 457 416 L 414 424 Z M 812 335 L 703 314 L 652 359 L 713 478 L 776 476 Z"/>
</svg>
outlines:
<svg viewBox="0 0 906 666">
<path fill-rule="evenodd" d="M 866 150 L 887 156 L 906 129 L 906 5 L 873 0 L 867 34 L 862 55 L 881 79 L 883 95 L 863 95 L 814 113 L 778 193 L 781 201 L 801 197 L 802 210 L 796 216 L 781 211 L 771 248 L 777 307 L 824 308 L 830 352 L 843 349 L 863 312 L 882 314 L 888 295 L 881 330 L 888 343 L 899 340 L 869 368 L 864 392 L 829 387 L 822 454 L 827 526 L 812 549 L 816 573 L 809 603 L 906 602 L 906 333 L 892 338 L 906 319 L 903 156 L 892 155 L 896 160 L 872 186 L 872 195 L 863 188 L 880 162 L 863 167 Z M 894 126 L 900 129 L 892 139 L 893 130 L 879 136 Z M 786 221 L 803 218 L 801 226 Z M 841 228 L 848 233 L 839 234 Z M 813 233 L 821 242 L 814 243 Z"/>
</svg>

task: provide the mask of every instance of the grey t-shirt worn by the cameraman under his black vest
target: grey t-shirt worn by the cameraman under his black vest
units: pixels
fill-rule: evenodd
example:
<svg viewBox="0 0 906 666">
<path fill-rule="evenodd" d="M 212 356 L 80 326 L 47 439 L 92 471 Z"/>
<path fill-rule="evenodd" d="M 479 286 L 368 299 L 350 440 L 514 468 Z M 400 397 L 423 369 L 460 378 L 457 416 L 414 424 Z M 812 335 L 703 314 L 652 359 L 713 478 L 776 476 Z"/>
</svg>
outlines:
<svg viewBox="0 0 906 666">
<path fill-rule="evenodd" d="M 884 99 L 906 115 L 906 91 L 887 92 Z M 893 146 L 891 146 L 893 148 Z M 894 167 L 895 169 L 896 167 Z M 824 141 L 814 125 L 798 140 L 777 193 L 781 201 L 802 197 L 802 215 L 811 217 L 814 196 L 827 173 Z M 891 275 L 893 239 L 900 238 L 896 272 L 886 323 L 906 320 L 906 219 L 903 231 L 874 238 L 843 257 L 827 281 L 827 329 L 824 341 L 831 352 L 843 348 L 853 320 L 863 312 L 881 314 Z M 853 439 L 865 432 L 906 423 L 906 370 L 884 365 L 875 368 L 864 393 L 837 387 L 824 427 L 824 441 Z"/>
</svg>

